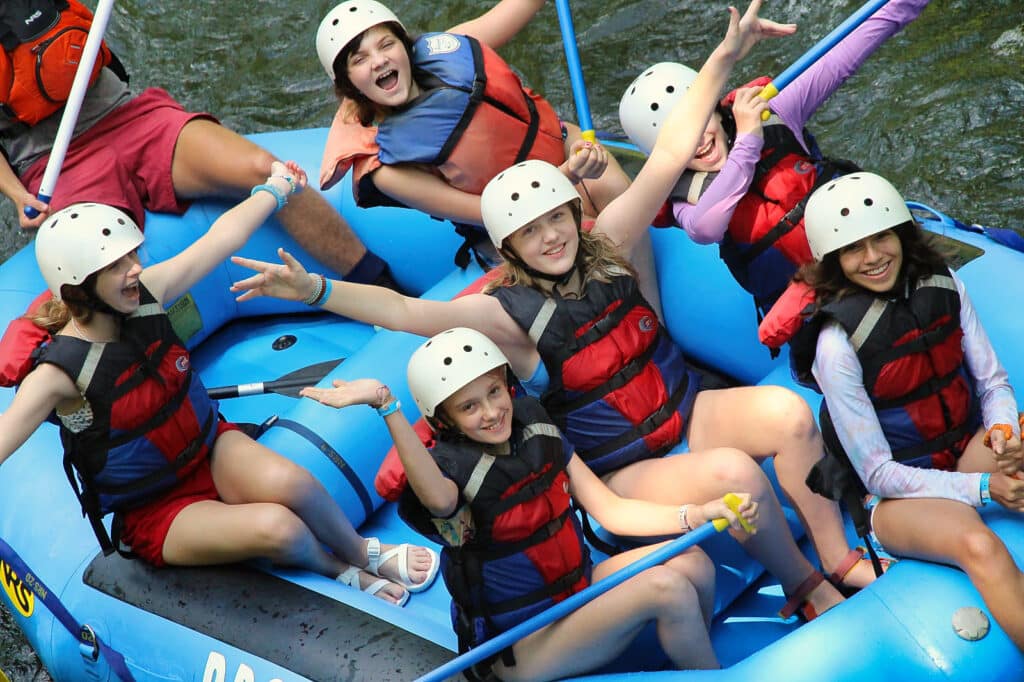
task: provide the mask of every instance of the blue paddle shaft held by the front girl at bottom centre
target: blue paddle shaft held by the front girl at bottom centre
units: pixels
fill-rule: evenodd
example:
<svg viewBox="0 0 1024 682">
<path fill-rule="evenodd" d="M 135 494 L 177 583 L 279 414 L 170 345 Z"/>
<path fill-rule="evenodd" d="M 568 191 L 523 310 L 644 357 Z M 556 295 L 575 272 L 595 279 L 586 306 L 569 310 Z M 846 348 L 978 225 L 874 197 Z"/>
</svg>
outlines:
<svg viewBox="0 0 1024 682">
<path fill-rule="evenodd" d="M 443 666 L 430 671 L 423 677 L 419 678 L 417 682 L 441 682 L 453 675 L 458 675 L 470 666 L 478 664 L 488 656 L 500 653 L 503 649 L 512 646 L 526 635 L 537 632 L 541 628 L 549 626 L 555 621 L 568 615 L 587 602 L 600 597 L 608 590 L 625 583 L 634 576 L 643 572 L 648 568 L 665 563 L 672 557 L 681 554 L 683 551 L 693 547 L 697 543 L 707 540 L 717 531 L 718 528 L 715 527 L 715 524 L 713 522 L 708 522 L 695 530 L 687 532 L 685 536 L 680 536 L 671 543 L 658 547 L 650 554 L 634 561 L 630 565 L 620 568 L 607 578 L 594 583 L 587 589 L 581 590 L 571 597 L 558 602 L 548 610 L 538 613 L 531 619 L 523 621 L 514 628 L 506 630 L 494 639 L 488 639 L 479 646 L 472 648 L 462 655 L 447 662 Z"/>
</svg>

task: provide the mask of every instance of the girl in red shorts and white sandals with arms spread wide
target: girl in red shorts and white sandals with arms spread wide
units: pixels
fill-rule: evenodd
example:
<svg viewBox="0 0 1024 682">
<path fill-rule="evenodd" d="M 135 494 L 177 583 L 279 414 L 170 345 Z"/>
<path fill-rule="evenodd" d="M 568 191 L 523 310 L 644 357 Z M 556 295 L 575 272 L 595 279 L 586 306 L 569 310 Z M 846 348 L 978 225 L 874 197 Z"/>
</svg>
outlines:
<svg viewBox="0 0 1024 682">
<path fill-rule="evenodd" d="M 252 197 L 145 268 L 126 213 L 75 204 L 47 218 L 36 258 L 54 300 L 34 322 L 52 338 L 0 414 L 0 463 L 55 412 L 104 552 L 126 546 L 157 566 L 266 557 L 401 604 L 429 584 L 436 554 L 360 538 L 305 469 L 219 419 L 164 312 L 305 183 L 275 162 Z"/>
</svg>

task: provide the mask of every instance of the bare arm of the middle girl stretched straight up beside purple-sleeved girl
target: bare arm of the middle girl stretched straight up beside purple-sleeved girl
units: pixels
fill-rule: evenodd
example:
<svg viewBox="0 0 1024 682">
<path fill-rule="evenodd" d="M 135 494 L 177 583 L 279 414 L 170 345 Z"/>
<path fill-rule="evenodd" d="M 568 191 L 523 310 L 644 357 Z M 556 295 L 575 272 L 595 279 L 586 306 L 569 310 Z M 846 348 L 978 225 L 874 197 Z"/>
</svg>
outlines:
<svg viewBox="0 0 1024 682">
<path fill-rule="evenodd" d="M 735 8 L 729 8 L 725 38 L 708 57 L 686 96 L 665 120 L 650 157 L 630 187 L 598 216 L 595 229 L 621 249 L 632 250 L 692 159 L 732 66 L 761 39 L 796 31 L 792 24 L 760 18 L 760 7 L 761 0 L 754 0 L 742 18 Z"/>
</svg>

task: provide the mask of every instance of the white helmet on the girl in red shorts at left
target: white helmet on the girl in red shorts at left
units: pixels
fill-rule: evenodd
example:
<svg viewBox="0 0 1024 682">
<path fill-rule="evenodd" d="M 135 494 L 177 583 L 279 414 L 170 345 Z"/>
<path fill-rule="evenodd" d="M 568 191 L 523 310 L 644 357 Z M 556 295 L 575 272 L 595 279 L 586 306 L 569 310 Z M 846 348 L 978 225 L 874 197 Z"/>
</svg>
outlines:
<svg viewBox="0 0 1024 682">
<path fill-rule="evenodd" d="M 36 262 L 60 300 L 60 287 L 79 286 L 138 248 L 142 231 L 124 211 L 103 204 L 72 204 L 48 217 L 36 235 Z"/>
</svg>

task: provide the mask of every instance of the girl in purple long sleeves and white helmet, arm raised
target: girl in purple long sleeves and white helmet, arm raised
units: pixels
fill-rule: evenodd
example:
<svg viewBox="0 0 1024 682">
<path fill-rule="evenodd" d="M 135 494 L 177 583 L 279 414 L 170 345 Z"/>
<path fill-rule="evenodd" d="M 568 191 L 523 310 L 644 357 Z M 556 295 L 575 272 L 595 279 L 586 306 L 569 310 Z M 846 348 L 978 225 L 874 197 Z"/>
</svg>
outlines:
<svg viewBox="0 0 1024 682">
<path fill-rule="evenodd" d="M 759 96 L 769 79 L 729 93 L 712 115 L 700 145 L 671 194 L 675 224 L 698 244 L 719 244 L 736 281 L 767 312 L 797 268 L 810 262 L 802 219 L 814 187 L 856 170 L 822 156 L 804 126 L 837 89 L 929 0 L 892 0 L 833 47 L 781 93 Z M 693 71 L 656 63 L 637 77 L 618 104 L 623 129 L 649 151 L 668 106 Z M 762 114 L 772 116 L 762 121 Z"/>
</svg>

